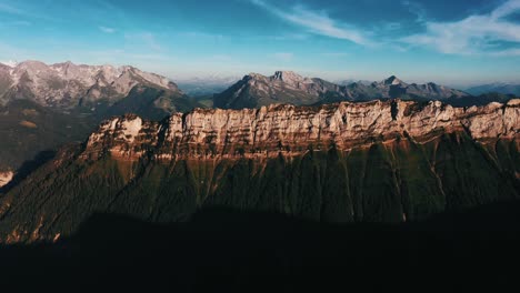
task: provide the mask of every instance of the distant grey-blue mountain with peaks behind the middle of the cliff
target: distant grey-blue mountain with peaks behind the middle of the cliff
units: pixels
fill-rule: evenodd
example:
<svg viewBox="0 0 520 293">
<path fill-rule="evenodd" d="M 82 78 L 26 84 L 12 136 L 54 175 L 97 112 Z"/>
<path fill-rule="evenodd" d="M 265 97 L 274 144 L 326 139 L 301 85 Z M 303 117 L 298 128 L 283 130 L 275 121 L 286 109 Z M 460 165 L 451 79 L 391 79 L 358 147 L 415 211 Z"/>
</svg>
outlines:
<svg viewBox="0 0 520 293">
<path fill-rule="evenodd" d="M 264 77 L 250 73 L 217 94 L 214 107 L 223 109 L 258 108 L 271 103 L 323 104 L 339 101 L 374 99 L 447 100 L 470 94 L 436 83 L 408 84 L 397 77 L 381 82 L 353 82 L 338 85 L 318 78 L 303 78 L 291 71 L 277 71 Z"/>
</svg>

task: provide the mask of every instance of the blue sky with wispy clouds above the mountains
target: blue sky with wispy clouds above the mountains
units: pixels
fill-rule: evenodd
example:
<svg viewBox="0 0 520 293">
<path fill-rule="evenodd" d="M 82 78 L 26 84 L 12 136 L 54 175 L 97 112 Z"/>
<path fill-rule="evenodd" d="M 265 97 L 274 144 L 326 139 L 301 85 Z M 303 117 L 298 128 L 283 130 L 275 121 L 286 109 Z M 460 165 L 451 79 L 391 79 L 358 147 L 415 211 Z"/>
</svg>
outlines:
<svg viewBox="0 0 520 293">
<path fill-rule="evenodd" d="M 520 0 L 0 0 L 0 61 L 520 81 Z"/>
</svg>

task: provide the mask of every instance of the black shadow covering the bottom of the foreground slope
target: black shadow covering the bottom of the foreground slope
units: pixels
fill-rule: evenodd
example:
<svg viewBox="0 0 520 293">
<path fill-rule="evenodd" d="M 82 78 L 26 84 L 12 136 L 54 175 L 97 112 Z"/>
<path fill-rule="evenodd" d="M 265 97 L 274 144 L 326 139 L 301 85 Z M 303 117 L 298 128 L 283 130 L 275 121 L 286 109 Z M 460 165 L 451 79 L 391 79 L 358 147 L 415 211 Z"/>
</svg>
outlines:
<svg viewBox="0 0 520 293">
<path fill-rule="evenodd" d="M 519 214 L 518 202 L 401 225 L 221 208 L 180 224 L 98 214 L 59 243 L 4 246 L 0 279 L 52 292 L 497 291 L 516 281 Z"/>
</svg>

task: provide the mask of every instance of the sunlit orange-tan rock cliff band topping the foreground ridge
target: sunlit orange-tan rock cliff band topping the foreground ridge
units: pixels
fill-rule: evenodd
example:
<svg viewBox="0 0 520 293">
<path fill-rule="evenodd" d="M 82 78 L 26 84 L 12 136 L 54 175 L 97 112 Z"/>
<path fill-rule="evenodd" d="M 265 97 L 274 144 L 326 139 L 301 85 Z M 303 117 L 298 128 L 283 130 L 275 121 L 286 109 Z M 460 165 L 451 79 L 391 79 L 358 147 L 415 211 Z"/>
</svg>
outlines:
<svg viewBox="0 0 520 293">
<path fill-rule="evenodd" d="M 342 102 L 322 107 L 276 104 L 260 109 L 177 113 L 162 123 L 130 115 L 106 121 L 90 135 L 86 156 L 111 152 L 136 160 L 148 155 L 266 156 L 301 154 L 309 148 L 340 150 L 409 138 L 426 142 L 451 132 L 473 140 L 520 138 L 520 100 L 453 108 L 439 101 Z"/>
</svg>

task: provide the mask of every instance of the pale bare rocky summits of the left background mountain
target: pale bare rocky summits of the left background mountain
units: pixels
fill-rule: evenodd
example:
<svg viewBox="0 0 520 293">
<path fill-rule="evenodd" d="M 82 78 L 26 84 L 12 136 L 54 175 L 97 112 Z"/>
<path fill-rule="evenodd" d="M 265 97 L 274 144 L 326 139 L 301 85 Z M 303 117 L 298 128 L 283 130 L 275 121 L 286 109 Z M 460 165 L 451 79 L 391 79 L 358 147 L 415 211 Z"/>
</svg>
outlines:
<svg viewBox="0 0 520 293">
<path fill-rule="evenodd" d="M 167 78 L 129 65 L 77 65 L 70 61 L 47 65 L 24 61 L 13 68 L 0 67 L 0 71 L 1 103 L 31 99 L 44 107 L 74 108 L 86 101 L 117 101 L 137 85 L 182 94 Z"/>
</svg>

